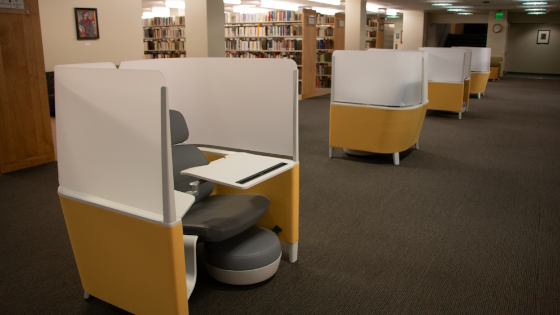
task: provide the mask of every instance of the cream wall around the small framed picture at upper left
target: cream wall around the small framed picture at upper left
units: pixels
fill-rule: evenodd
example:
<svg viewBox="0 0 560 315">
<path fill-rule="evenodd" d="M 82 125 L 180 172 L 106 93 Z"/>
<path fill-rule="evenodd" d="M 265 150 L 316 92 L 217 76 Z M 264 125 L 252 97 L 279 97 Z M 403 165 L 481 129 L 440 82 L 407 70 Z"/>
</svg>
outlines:
<svg viewBox="0 0 560 315">
<path fill-rule="evenodd" d="M 74 8 L 97 9 L 99 39 L 77 40 Z M 39 13 L 46 71 L 59 64 L 118 65 L 144 55 L 141 0 L 39 0 Z"/>
</svg>

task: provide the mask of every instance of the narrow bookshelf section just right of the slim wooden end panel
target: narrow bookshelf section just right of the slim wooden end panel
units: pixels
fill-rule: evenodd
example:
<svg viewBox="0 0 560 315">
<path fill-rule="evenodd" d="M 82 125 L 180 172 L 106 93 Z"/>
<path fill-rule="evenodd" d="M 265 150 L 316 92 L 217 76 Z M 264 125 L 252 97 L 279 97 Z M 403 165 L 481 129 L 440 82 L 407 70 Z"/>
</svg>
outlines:
<svg viewBox="0 0 560 315">
<path fill-rule="evenodd" d="M 318 89 L 330 89 L 332 73 L 332 53 L 344 49 L 345 15 L 317 16 L 317 57 L 316 82 Z M 329 92 L 329 91 L 327 91 Z"/>
</svg>

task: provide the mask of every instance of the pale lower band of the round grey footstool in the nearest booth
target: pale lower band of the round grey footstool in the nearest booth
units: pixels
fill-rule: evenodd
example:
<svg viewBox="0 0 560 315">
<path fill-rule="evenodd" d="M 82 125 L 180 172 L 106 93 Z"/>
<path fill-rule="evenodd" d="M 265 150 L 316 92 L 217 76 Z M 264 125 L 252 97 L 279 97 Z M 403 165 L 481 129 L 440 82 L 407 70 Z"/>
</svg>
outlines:
<svg viewBox="0 0 560 315">
<path fill-rule="evenodd" d="M 278 259 L 272 264 L 253 270 L 226 270 L 216 268 L 208 263 L 206 264 L 206 270 L 208 270 L 208 273 L 212 276 L 212 278 L 223 283 L 233 285 L 255 284 L 263 282 L 264 280 L 274 276 L 278 270 L 278 266 L 280 265 L 281 257 L 282 254 L 280 254 Z"/>
</svg>

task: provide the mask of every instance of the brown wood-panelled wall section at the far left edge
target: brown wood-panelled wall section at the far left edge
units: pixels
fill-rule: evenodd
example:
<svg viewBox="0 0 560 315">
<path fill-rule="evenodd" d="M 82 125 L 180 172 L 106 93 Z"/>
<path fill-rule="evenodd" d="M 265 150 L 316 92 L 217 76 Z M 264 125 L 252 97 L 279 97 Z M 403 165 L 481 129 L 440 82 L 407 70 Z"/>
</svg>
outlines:
<svg viewBox="0 0 560 315">
<path fill-rule="evenodd" d="M 0 174 L 55 160 L 37 1 L 0 13 Z"/>
</svg>

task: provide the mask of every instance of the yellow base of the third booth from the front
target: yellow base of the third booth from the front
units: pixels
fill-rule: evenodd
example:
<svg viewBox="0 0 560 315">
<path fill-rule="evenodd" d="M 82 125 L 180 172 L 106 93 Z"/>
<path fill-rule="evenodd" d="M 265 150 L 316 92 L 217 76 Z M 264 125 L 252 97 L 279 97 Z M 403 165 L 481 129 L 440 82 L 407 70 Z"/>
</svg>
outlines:
<svg viewBox="0 0 560 315">
<path fill-rule="evenodd" d="M 428 82 L 428 109 L 461 113 L 464 90 L 460 83 Z"/>
</svg>

